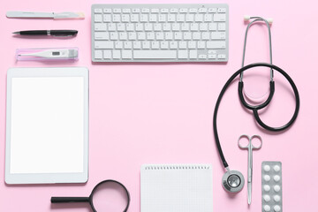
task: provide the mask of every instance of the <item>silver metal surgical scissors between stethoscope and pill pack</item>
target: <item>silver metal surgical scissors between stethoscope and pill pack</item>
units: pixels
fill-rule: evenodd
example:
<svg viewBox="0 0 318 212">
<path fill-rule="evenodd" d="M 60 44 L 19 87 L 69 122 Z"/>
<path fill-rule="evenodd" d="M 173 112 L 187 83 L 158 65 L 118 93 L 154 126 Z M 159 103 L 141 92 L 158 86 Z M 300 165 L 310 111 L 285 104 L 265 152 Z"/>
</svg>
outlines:
<svg viewBox="0 0 318 212">
<path fill-rule="evenodd" d="M 248 140 L 247 145 L 241 144 L 240 140 L 242 138 L 246 138 Z M 258 139 L 260 140 L 260 144 L 256 145 L 253 144 L 253 140 Z M 253 174 L 253 149 L 260 149 L 262 145 L 262 140 L 260 135 L 253 135 L 251 138 L 244 134 L 239 136 L 238 140 L 239 148 L 247 149 L 248 150 L 248 165 L 247 165 L 247 202 L 250 205 L 252 201 L 252 174 Z"/>
</svg>

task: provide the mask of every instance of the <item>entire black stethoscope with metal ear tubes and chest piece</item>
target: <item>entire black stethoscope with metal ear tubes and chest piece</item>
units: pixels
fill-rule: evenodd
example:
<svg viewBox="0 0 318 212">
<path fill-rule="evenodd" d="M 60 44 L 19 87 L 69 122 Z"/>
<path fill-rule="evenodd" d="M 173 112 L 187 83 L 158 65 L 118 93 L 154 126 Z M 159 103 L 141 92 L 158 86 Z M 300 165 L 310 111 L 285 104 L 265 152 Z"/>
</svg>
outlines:
<svg viewBox="0 0 318 212">
<path fill-rule="evenodd" d="M 286 73 L 284 72 L 283 69 L 277 67 L 276 65 L 272 64 L 272 48 L 271 48 L 271 36 L 270 36 L 270 27 L 269 27 L 269 21 L 266 19 L 263 19 L 261 17 L 247 17 L 245 18 L 246 20 L 248 19 L 254 19 L 253 21 L 251 21 L 248 26 L 246 27 L 246 34 L 245 34 L 245 42 L 244 42 L 244 50 L 243 50 L 243 61 L 242 61 L 242 68 L 239 69 L 239 71 L 233 73 L 233 75 L 231 75 L 231 78 L 228 79 L 225 83 L 225 85 L 223 86 L 220 95 L 217 98 L 216 101 L 216 107 L 214 110 L 214 116 L 213 116 L 213 130 L 214 130 L 214 135 L 215 135 L 215 139 L 216 139 L 216 148 L 218 150 L 218 153 L 221 157 L 222 163 L 223 163 L 223 167 L 226 170 L 225 174 L 223 175 L 223 179 L 222 179 L 222 185 L 224 187 L 225 190 L 231 192 L 231 193 L 237 193 L 240 190 L 242 190 L 243 186 L 244 186 L 244 177 L 242 175 L 241 172 L 239 172 L 238 170 L 230 170 L 228 163 L 226 162 L 224 155 L 223 155 L 223 151 L 221 148 L 221 144 L 220 144 L 220 140 L 218 137 L 218 133 L 217 133 L 217 127 L 216 127 L 216 117 L 217 117 L 217 110 L 220 106 L 220 102 L 222 100 L 222 97 L 226 91 L 226 89 L 231 85 L 231 82 L 233 81 L 233 79 L 235 79 L 238 75 L 240 75 L 240 79 L 239 79 L 239 100 L 240 102 L 243 104 L 244 107 L 246 107 L 246 109 L 248 110 L 252 110 L 255 120 L 256 122 L 261 125 L 262 128 L 268 130 L 268 131 L 272 131 L 272 132 L 279 132 L 279 131 L 284 131 L 285 129 L 287 129 L 288 127 L 290 127 L 294 121 L 296 120 L 298 114 L 299 114 L 299 92 L 298 89 L 295 85 L 295 83 L 292 81 L 292 78 Z M 256 63 L 256 64 L 248 64 L 246 66 L 244 66 L 244 59 L 245 59 L 245 53 L 246 53 L 246 38 L 247 38 L 247 32 L 249 27 L 251 27 L 251 25 L 253 25 L 256 21 L 263 21 L 266 23 L 267 27 L 268 27 L 268 31 L 269 31 L 269 56 L 270 56 L 270 64 L 266 64 L 266 63 Z M 244 91 L 243 91 L 243 87 L 244 87 L 244 83 L 243 83 L 243 72 L 245 72 L 248 69 L 254 68 L 254 67 L 269 67 L 270 68 L 270 81 L 269 81 L 269 97 L 266 99 L 266 101 L 262 102 L 259 105 L 251 105 L 249 103 L 246 102 L 245 97 L 244 97 Z M 264 122 L 261 121 L 261 118 L 259 116 L 258 110 L 261 110 L 263 108 L 265 108 L 266 106 L 269 105 L 269 102 L 272 100 L 273 95 L 275 93 L 275 82 L 274 82 L 274 74 L 273 74 L 273 70 L 276 70 L 277 72 L 280 72 L 285 79 L 288 80 L 288 82 L 290 83 L 290 85 L 292 86 L 292 90 L 294 92 L 295 95 L 295 101 L 296 101 L 296 107 L 295 107 L 295 111 L 294 114 L 291 118 L 291 120 L 280 127 L 272 127 L 269 125 L 266 125 Z"/>
</svg>

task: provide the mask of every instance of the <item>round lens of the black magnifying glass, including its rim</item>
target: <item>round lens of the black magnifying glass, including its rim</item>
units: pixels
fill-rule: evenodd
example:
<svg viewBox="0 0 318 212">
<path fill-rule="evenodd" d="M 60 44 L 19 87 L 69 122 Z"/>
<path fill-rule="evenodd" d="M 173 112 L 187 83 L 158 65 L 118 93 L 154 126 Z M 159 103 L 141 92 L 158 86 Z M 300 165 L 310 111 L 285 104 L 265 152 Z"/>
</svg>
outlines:
<svg viewBox="0 0 318 212">
<path fill-rule="evenodd" d="M 92 198 L 94 208 L 98 212 L 123 212 L 127 201 L 125 189 L 114 182 L 105 182 L 96 187 Z"/>
</svg>

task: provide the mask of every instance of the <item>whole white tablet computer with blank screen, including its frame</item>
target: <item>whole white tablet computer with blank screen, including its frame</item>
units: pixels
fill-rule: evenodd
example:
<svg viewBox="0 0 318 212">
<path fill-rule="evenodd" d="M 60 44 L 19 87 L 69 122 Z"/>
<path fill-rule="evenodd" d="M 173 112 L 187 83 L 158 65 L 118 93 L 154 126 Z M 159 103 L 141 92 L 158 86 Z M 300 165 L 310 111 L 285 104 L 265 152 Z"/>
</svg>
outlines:
<svg viewBox="0 0 318 212">
<path fill-rule="evenodd" d="M 87 178 L 87 68 L 9 69 L 5 182 L 84 183 Z"/>
</svg>

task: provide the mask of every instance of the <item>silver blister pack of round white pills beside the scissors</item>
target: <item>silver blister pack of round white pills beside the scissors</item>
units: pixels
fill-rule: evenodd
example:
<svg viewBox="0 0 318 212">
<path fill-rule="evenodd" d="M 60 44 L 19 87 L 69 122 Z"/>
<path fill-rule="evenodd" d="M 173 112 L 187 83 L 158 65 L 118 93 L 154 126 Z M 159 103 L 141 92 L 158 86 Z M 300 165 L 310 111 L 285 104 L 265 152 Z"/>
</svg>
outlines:
<svg viewBox="0 0 318 212">
<path fill-rule="evenodd" d="M 283 211 L 282 163 L 261 163 L 261 211 Z"/>
</svg>

